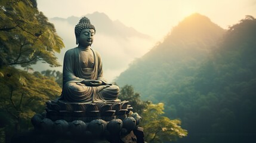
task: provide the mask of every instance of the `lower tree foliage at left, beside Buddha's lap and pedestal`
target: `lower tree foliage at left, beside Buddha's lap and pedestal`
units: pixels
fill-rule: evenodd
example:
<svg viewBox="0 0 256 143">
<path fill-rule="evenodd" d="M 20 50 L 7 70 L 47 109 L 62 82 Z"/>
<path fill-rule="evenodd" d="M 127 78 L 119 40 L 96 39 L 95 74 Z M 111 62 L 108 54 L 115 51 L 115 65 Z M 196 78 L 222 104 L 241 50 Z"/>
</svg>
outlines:
<svg viewBox="0 0 256 143">
<path fill-rule="evenodd" d="M 57 98 L 61 88 L 38 71 L 31 74 L 7 67 L 4 72 L 8 75 L 0 77 L 0 110 L 10 116 L 10 125 L 14 124 L 14 130 L 19 132 L 21 123 L 30 120 L 36 112 L 42 112 L 45 102 Z"/>
</svg>

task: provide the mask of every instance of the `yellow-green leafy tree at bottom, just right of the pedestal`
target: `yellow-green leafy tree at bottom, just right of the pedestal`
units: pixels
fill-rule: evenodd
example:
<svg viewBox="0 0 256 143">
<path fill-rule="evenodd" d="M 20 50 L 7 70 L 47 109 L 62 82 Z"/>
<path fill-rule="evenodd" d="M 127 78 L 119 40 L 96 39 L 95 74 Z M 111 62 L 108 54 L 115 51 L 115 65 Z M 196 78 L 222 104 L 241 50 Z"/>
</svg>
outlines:
<svg viewBox="0 0 256 143">
<path fill-rule="evenodd" d="M 175 141 L 177 138 L 187 136 L 187 130 L 181 128 L 181 121 L 171 120 L 164 114 L 164 104 L 148 104 L 144 109 L 141 120 L 147 142 Z"/>
</svg>

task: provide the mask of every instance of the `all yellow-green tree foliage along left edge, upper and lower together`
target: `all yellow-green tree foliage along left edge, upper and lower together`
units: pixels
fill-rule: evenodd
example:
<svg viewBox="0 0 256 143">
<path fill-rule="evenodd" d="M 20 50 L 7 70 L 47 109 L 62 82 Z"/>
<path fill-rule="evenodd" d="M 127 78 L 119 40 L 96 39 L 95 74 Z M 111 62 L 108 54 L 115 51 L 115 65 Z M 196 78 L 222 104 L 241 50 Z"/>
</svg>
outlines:
<svg viewBox="0 0 256 143">
<path fill-rule="evenodd" d="M 35 0 L 0 1 L 0 114 L 5 114 L 0 119 L 7 123 L 0 123 L 0 128 L 9 134 L 27 129 L 30 117 L 44 110 L 45 101 L 60 95 L 53 78 L 17 68 L 31 69 L 38 61 L 60 66 L 54 54 L 63 47 Z"/>
</svg>

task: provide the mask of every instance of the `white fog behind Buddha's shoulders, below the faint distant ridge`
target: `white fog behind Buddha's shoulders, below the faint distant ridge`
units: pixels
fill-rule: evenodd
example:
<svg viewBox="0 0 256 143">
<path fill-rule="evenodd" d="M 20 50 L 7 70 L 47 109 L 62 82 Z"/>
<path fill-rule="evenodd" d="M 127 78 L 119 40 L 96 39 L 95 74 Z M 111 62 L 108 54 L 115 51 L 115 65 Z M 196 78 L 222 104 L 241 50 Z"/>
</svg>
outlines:
<svg viewBox="0 0 256 143">
<path fill-rule="evenodd" d="M 75 25 L 57 18 L 51 18 L 50 22 L 54 24 L 57 34 L 63 39 L 65 45 L 60 53 L 55 54 L 58 62 L 62 65 L 64 53 L 68 49 L 77 46 L 74 33 Z M 104 27 L 104 24 L 102 26 Z M 127 69 L 129 63 L 148 52 L 155 42 L 156 40 L 152 38 L 141 38 L 136 35 L 123 37 L 97 31 L 91 48 L 100 53 L 103 61 L 104 77 L 112 82 L 115 77 Z M 38 71 L 47 69 L 62 71 L 62 66 L 53 68 L 47 64 L 38 63 L 33 66 L 33 69 Z"/>
</svg>

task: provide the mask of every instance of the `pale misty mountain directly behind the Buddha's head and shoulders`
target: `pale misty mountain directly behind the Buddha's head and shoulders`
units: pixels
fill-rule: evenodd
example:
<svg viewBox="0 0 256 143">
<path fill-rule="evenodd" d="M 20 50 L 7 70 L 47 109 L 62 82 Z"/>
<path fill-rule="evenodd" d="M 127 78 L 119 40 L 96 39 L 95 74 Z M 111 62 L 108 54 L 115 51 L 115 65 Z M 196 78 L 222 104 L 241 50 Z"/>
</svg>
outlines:
<svg viewBox="0 0 256 143">
<path fill-rule="evenodd" d="M 104 13 L 95 12 L 85 16 L 95 26 L 96 35 L 92 49 L 100 52 L 103 58 L 104 77 L 109 81 L 119 76 L 134 58 L 141 57 L 155 43 L 149 35 L 144 35 L 132 27 L 125 26 L 121 21 L 110 20 Z M 54 24 L 58 35 L 63 38 L 66 46 L 60 54 L 57 54 L 61 64 L 64 52 L 77 46 L 74 29 L 81 18 L 75 16 L 50 18 L 50 22 Z M 39 64 L 34 69 L 41 71 L 50 69 L 50 67 Z M 57 67 L 55 70 L 62 71 L 62 67 Z"/>
</svg>

